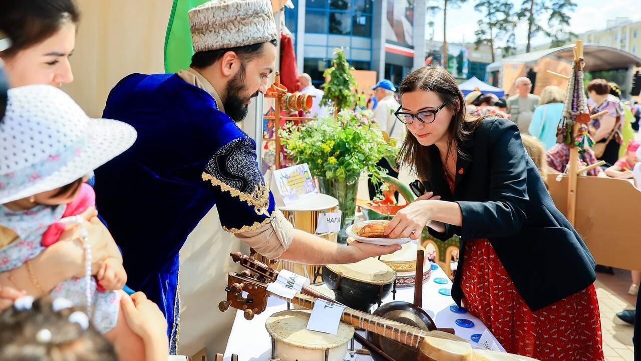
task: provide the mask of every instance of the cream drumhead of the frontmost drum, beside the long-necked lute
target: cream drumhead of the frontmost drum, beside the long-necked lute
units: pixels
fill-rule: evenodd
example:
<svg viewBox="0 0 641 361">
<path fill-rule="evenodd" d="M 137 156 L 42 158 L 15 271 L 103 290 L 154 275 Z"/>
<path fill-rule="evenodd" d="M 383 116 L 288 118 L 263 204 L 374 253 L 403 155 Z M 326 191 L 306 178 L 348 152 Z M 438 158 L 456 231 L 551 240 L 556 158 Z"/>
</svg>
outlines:
<svg viewBox="0 0 641 361">
<path fill-rule="evenodd" d="M 333 349 L 346 344 L 354 336 L 351 324 L 340 322 L 337 335 L 307 330 L 311 311 L 276 312 L 265 321 L 265 328 L 275 340 L 303 349 Z"/>
</svg>

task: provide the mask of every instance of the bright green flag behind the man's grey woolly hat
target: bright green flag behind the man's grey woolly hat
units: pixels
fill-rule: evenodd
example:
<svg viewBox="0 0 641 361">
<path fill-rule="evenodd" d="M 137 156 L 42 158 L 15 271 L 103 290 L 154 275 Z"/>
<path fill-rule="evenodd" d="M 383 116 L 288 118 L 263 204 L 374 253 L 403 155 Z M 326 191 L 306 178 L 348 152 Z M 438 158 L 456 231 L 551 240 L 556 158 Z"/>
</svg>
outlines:
<svg viewBox="0 0 641 361">
<path fill-rule="evenodd" d="M 174 0 L 165 35 L 165 73 L 187 69 L 194 55 L 187 13 L 209 0 Z"/>
</svg>

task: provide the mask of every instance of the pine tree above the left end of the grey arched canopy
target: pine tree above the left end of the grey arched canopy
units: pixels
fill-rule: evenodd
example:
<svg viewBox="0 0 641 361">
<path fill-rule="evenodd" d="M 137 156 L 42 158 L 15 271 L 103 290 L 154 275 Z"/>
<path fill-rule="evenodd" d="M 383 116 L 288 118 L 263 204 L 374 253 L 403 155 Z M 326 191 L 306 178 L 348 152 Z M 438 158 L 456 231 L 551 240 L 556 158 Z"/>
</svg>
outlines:
<svg viewBox="0 0 641 361">
<path fill-rule="evenodd" d="M 492 62 L 494 62 L 494 49 L 497 42 L 505 40 L 503 53 L 510 53 L 514 48 L 514 27 L 516 21 L 513 15 L 514 5 L 510 0 L 479 0 L 474 5 L 474 10 L 483 14 L 478 21 L 478 30 L 474 31 L 476 49 L 483 44 L 490 46 Z"/>
</svg>

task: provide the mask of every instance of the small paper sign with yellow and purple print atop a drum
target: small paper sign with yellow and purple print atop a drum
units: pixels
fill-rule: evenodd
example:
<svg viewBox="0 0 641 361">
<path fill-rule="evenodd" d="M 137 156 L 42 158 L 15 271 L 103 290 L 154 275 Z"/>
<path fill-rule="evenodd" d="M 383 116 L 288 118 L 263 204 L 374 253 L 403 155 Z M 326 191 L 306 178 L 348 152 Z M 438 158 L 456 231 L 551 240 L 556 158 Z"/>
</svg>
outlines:
<svg viewBox="0 0 641 361">
<path fill-rule="evenodd" d="M 288 206 L 307 195 L 318 193 L 307 163 L 274 170 L 270 189 L 278 206 Z"/>
</svg>

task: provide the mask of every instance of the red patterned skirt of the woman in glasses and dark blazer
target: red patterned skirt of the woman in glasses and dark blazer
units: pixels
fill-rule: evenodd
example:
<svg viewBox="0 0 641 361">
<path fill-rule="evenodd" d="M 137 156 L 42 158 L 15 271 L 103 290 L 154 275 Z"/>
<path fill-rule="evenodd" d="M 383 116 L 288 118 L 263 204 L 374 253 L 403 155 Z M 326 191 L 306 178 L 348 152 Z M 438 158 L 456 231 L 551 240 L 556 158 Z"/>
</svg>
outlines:
<svg viewBox="0 0 641 361">
<path fill-rule="evenodd" d="M 509 353 L 542 361 L 604 360 L 594 285 L 532 312 L 485 239 L 465 242 L 462 271 L 463 306 Z"/>
</svg>

